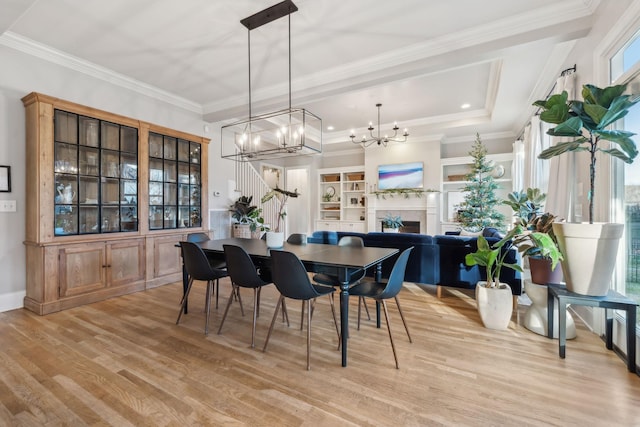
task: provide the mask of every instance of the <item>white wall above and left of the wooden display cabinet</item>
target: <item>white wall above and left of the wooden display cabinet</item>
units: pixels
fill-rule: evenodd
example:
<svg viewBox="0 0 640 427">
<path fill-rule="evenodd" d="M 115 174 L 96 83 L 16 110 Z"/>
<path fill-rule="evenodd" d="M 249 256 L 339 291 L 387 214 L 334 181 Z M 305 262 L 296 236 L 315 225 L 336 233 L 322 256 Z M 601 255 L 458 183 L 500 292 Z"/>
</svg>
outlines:
<svg viewBox="0 0 640 427">
<path fill-rule="evenodd" d="M 17 212 L 0 212 L 0 311 L 6 311 L 22 307 L 25 295 L 25 156 L 37 155 L 25 153 L 23 96 L 41 92 L 196 135 L 204 123 L 199 112 L 2 45 L 0 64 L 0 165 L 11 166 L 12 178 L 12 192 L 0 193 L 0 200 L 17 202 Z"/>
</svg>

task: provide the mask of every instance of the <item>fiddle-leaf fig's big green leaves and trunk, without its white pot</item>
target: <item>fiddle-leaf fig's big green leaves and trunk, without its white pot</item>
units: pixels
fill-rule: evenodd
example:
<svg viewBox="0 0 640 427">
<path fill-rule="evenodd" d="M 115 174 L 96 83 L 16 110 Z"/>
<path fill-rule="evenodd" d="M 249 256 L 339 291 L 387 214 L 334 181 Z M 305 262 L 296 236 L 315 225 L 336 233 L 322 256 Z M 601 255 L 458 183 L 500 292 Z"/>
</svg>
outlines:
<svg viewBox="0 0 640 427">
<path fill-rule="evenodd" d="M 540 120 L 555 124 L 547 134 L 558 137 L 575 138 L 567 142 L 558 142 L 544 150 L 538 158 L 550 159 L 567 152 L 586 151 L 589 153 L 589 223 L 593 223 L 593 201 L 595 198 L 596 153 L 609 154 L 632 163 L 638 155 L 636 144 L 631 137 L 633 132 L 607 129 L 610 125 L 627 115 L 640 97 L 623 95 L 626 85 L 609 86 L 601 89 L 594 85 L 582 87 L 583 101 L 569 100 L 566 91 L 547 100 L 536 101 L 540 107 Z M 602 142 L 611 144 L 603 147 Z M 611 147 L 611 148 L 609 148 Z"/>
</svg>

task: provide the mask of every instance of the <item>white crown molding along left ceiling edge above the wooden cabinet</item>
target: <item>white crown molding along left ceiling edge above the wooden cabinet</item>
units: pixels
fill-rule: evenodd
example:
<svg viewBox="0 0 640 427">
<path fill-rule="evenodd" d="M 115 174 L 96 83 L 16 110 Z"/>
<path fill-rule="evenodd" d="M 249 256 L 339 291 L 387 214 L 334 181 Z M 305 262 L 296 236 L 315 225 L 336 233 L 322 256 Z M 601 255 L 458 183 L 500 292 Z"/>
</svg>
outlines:
<svg viewBox="0 0 640 427">
<path fill-rule="evenodd" d="M 70 55 L 61 50 L 35 42 L 26 37 L 22 37 L 11 31 L 7 31 L 0 35 L 0 45 L 15 49 L 19 52 L 34 56 L 36 58 L 43 59 L 47 62 L 63 66 L 87 76 L 114 84 L 124 89 L 138 92 L 142 95 L 148 96 L 158 101 L 166 102 L 183 110 L 202 115 L 202 106 L 200 104 L 176 96 L 167 91 L 158 89 L 157 87 L 143 83 L 124 74 L 117 73 L 108 68 Z"/>
</svg>

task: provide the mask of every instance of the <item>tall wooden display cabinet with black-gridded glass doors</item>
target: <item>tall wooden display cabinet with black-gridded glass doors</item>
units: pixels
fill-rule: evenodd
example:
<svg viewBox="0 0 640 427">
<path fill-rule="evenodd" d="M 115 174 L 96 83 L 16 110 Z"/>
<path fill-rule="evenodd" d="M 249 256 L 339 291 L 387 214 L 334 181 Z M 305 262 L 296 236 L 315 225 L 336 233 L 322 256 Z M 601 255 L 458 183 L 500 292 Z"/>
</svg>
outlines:
<svg viewBox="0 0 640 427">
<path fill-rule="evenodd" d="M 175 245 L 188 232 L 207 231 L 201 218 L 207 169 L 201 165 L 209 140 L 38 93 L 22 101 L 28 153 L 24 306 L 47 314 L 181 280 Z M 150 135 L 162 136 L 163 150 L 164 139 L 176 141 L 173 154 L 161 156 L 163 223 L 157 230 L 150 226 L 156 173 Z M 180 179 L 186 181 L 182 198 Z M 167 218 L 172 209 L 175 215 Z"/>
</svg>

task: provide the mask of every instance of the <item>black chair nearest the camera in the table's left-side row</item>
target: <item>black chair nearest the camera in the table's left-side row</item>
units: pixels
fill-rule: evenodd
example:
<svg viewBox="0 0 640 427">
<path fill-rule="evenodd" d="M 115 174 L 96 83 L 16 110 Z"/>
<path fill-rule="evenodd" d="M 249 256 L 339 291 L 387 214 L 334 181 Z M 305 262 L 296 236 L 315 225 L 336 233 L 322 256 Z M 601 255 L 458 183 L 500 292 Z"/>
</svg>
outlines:
<svg viewBox="0 0 640 427">
<path fill-rule="evenodd" d="M 271 319 L 271 326 L 267 333 L 262 351 L 267 351 L 269 345 L 269 337 L 273 331 L 273 325 L 278 317 L 278 310 L 284 304 L 285 298 L 302 300 L 307 305 L 307 370 L 311 369 L 311 300 L 327 295 L 331 304 L 331 313 L 333 315 L 333 323 L 336 326 L 338 334 L 338 342 L 340 342 L 340 330 L 338 329 L 338 320 L 336 319 L 336 310 L 333 304 L 331 294 L 335 291 L 329 286 L 318 286 L 311 283 L 307 270 L 302 261 L 294 253 L 286 251 L 271 251 L 273 283 L 280 292 L 280 298 L 276 304 L 276 310 Z"/>
</svg>

